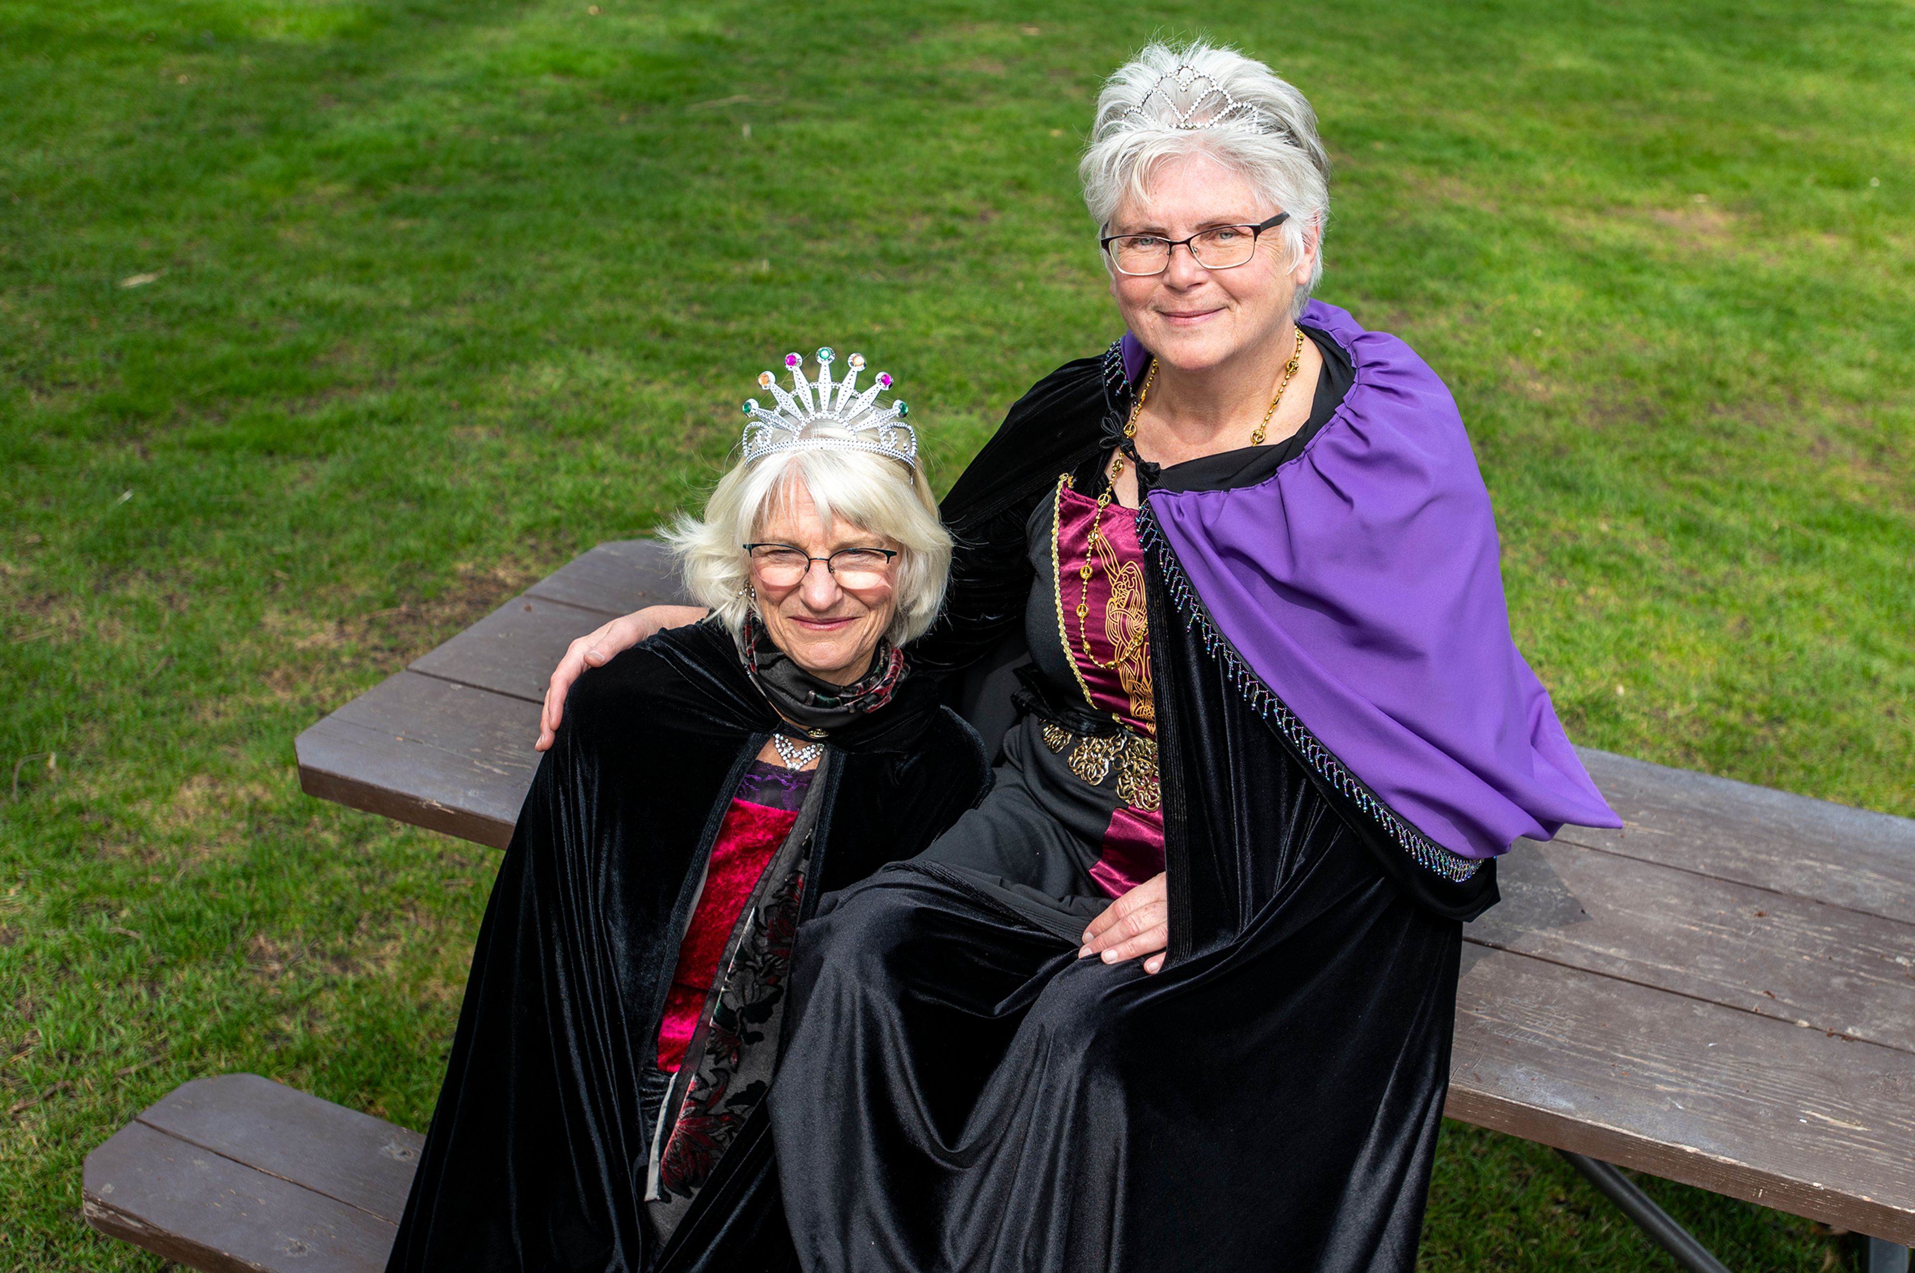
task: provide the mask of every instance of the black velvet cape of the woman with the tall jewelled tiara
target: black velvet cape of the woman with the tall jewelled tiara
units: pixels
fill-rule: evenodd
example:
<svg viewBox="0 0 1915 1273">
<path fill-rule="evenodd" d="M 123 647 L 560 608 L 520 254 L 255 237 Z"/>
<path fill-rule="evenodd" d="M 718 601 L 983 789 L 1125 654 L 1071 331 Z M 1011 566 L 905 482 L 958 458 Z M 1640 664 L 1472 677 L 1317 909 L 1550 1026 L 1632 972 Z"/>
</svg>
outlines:
<svg viewBox="0 0 1915 1273">
<path fill-rule="evenodd" d="M 642 1200 L 640 1070 L 710 846 L 774 722 L 712 622 L 573 685 L 479 930 L 389 1273 L 795 1267 L 762 1105 L 663 1250 Z M 973 729 L 908 676 L 831 735 L 804 913 L 921 850 L 988 777 Z"/>
</svg>

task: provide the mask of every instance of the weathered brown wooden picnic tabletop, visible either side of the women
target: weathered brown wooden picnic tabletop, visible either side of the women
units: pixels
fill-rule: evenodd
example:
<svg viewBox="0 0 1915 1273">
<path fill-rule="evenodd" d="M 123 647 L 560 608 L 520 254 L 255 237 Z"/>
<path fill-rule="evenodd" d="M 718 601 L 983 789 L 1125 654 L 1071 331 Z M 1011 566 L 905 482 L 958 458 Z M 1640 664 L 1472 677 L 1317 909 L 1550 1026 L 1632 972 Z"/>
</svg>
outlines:
<svg viewBox="0 0 1915 1273">
<path fill-rule="evenodd" d="M 299 735 L 301 783 L 504 846 L 565 645 L 670 599 L 601 544 Z M 1503 860 L 1448 1112 L 1915 1244 L 1915 821 L 1582 756 L 1626 827 Z"/>
</svg>

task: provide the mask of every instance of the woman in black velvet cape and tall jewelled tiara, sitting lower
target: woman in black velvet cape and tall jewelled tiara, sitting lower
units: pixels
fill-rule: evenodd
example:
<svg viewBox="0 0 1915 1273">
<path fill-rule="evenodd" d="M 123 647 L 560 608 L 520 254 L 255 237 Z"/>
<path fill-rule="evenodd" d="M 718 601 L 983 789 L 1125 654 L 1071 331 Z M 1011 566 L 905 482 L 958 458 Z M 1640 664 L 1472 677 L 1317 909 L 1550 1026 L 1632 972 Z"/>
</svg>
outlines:
<svg viewBox="0 0 1915 1273">
<path fill-rule="evenodd" d="M 764 1103 L 795 932 L 988 766 L 900 649 L 952 551 L 906 408 L 858 354 L 787 364 L 670 536 L 710 618 L 584 676 L 538 766 L 394 1273 L 795 1267 Z"/>
</svg>

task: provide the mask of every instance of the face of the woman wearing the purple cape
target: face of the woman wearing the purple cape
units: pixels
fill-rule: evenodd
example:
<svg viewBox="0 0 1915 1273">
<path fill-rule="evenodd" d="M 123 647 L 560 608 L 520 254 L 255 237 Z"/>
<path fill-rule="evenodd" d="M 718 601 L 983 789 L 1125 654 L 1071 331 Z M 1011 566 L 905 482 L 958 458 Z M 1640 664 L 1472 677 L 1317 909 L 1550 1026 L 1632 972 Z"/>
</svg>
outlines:
<svg viewBox="0 0 1915 1273">
<path fill-rule="evenodd" d="M 1149 203 L 1124 199 L 1105 234 L 1157 234 L 1183 239 L 1212 226 L 1254 226 L 1270 207 L 1243 176 L 1208 155 L 1157 167 Z M 1281 232 L 1264 232 L 1256 255 L 1231 270 L 1206 270 L 1178 247 L 1170 268 L 1138 278 L 1111 276 L 1124 322 L 1143 346 L 1182 371 L 1205 371 L 1239 354 L 1272 348 L 1291 318 L 1291 301 L 1310 283 L 1312 253 L 1295 266 Z"/>
</svg>

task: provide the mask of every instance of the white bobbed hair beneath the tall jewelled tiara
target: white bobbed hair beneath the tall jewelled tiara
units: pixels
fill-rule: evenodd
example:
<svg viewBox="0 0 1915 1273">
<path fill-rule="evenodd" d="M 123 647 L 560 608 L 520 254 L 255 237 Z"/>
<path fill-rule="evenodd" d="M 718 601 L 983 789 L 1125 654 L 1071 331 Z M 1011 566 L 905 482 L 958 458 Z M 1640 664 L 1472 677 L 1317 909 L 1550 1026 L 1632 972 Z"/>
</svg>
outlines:
<svg viewBox="0 0 1915 1273">
<path fill-rule="evenodd" d="M 822 431 L 812 435 L 822 436 Z M 753 609 L 745 544 L 758 538 L 799 482 L 825 526 L 837 515 L 896 544 L 892 593 L 898 613 L 885 636 L 904 645 L 925 632 L 944 605 L 952 536 L 938 521 L 938 502 L 923 469 L 871 452 L 797 450 L 741 459 L 718 479 L 703 517 L 680 515 L 665 532 L 691 599 L 710 607 L 733 636 L 745 630 Z"/>
</svg>

